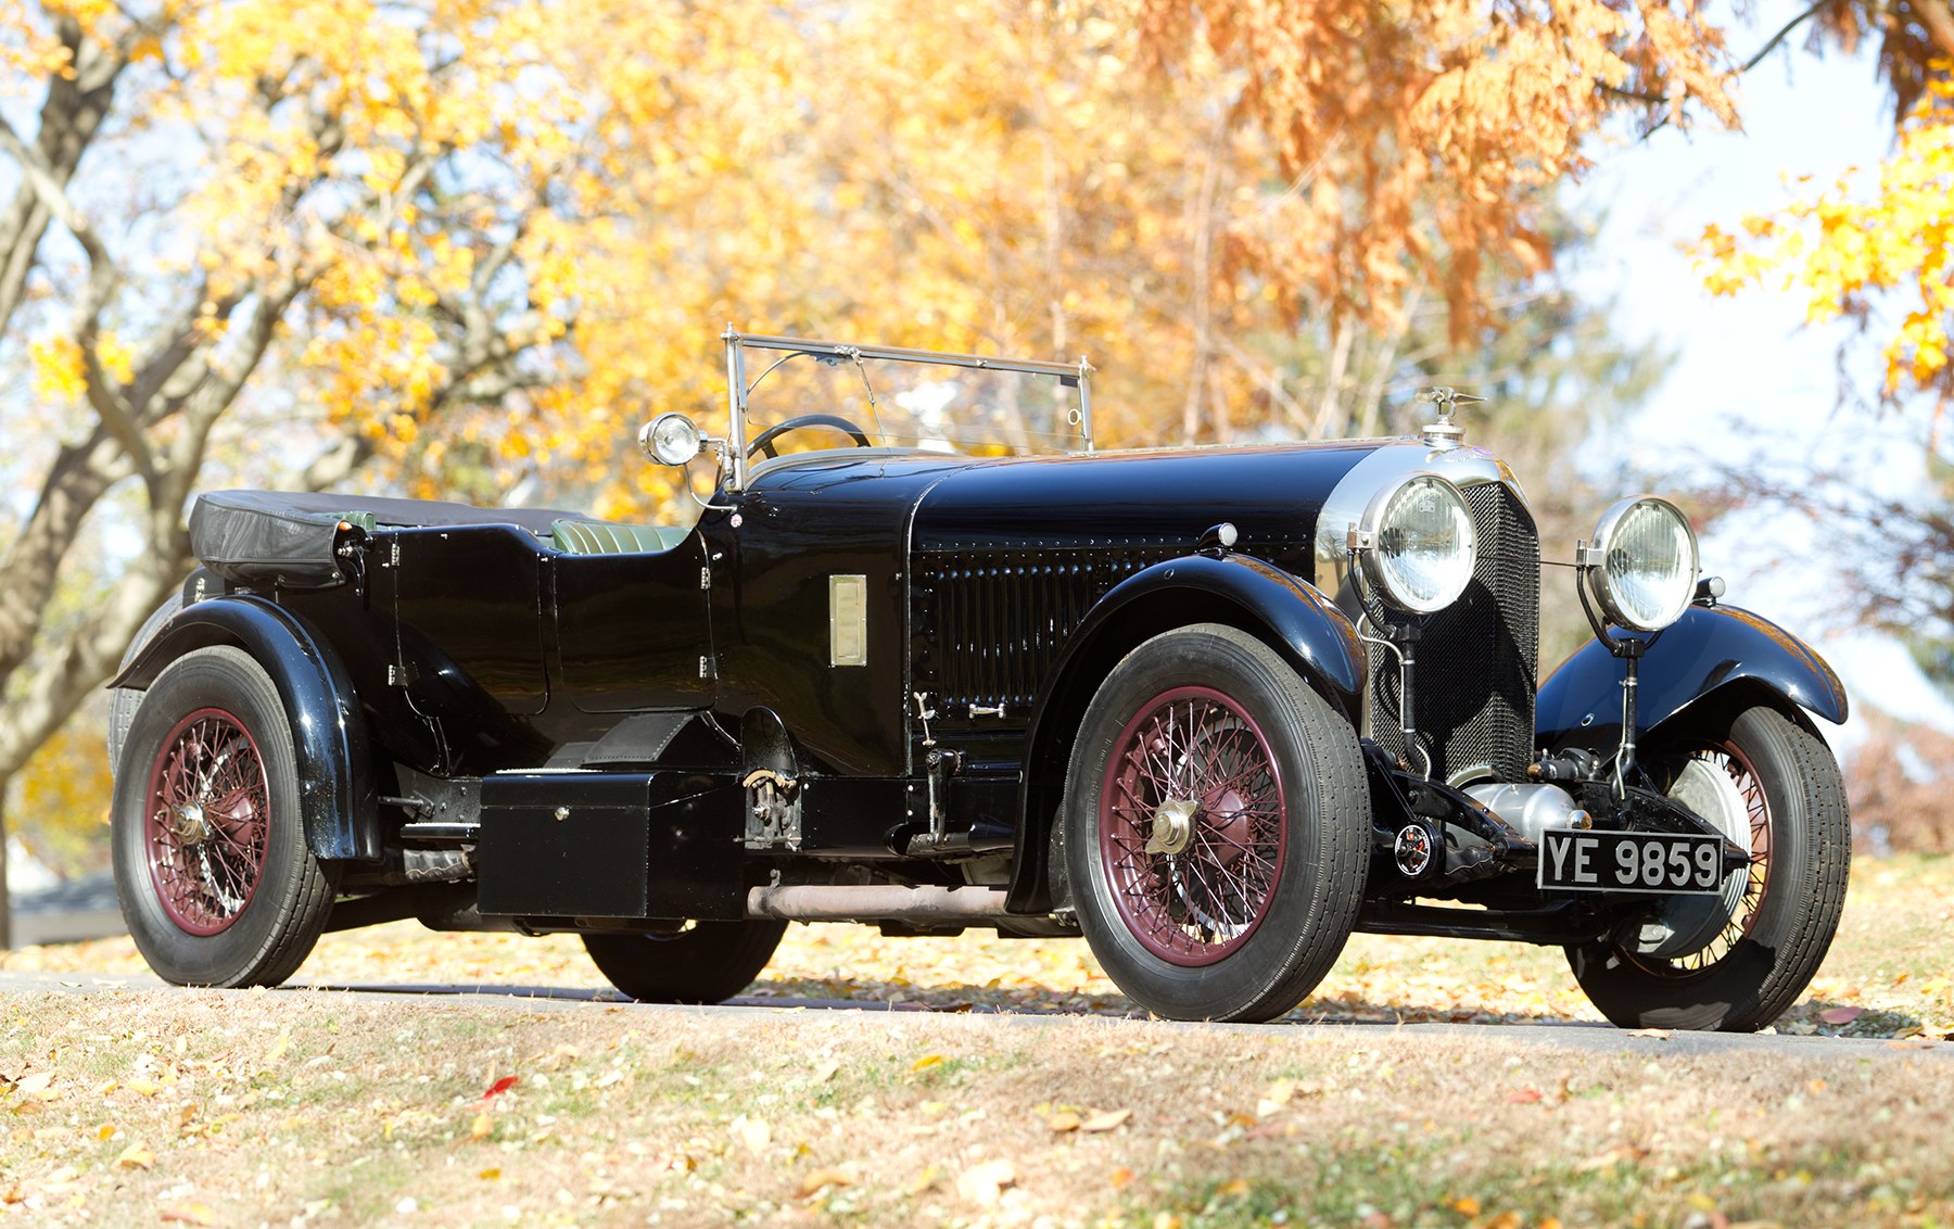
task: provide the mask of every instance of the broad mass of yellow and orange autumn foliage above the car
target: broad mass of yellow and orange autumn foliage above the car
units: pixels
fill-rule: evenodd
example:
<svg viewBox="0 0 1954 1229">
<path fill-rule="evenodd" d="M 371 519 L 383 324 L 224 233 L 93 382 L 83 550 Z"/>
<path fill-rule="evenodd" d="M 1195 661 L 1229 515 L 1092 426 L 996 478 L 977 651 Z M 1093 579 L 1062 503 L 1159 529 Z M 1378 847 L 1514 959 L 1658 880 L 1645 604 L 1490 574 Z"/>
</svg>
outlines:
<svg viewBox="0 0 1954 1229">
<path fill-rule="evenodd" d="M 1682 0 L 29 6 L 166 61 L 117 104 L 190 150 L 203 336 L 293 283 L 266 371 L 379 481 L 619 512 L 674 496 L 631 440 L 723 404 L 725 322 L 1090 350 L 1108 444 L 1309 430 L 1237 338 L 1434 287 L 1475 326 L 1548 260 L 1542 188 L 1622 106 L 1596 82 L 1727 117 Z M 0 18 L 10 66 L 66 66 L 41 25 Z M 72 344 L 33 375 L 86 393 Z"/>
</svg>

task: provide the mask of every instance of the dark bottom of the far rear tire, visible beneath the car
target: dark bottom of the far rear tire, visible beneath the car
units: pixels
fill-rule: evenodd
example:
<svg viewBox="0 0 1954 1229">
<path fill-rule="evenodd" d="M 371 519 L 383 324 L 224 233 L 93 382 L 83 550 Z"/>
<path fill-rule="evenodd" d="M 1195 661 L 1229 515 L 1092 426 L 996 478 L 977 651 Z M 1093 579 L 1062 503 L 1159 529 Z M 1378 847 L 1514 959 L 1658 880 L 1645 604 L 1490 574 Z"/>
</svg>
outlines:
<svg viewBox="0 0 1954 1229">
<path fill-rule="evenodd" d="M 586 934 L 590 963 L 639 1002 L 725 1002 L 760 975 L 786 922 L 688 922 L 678 934 Z"/>
</svg>

